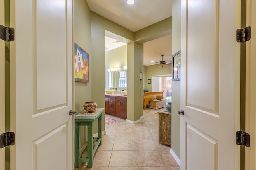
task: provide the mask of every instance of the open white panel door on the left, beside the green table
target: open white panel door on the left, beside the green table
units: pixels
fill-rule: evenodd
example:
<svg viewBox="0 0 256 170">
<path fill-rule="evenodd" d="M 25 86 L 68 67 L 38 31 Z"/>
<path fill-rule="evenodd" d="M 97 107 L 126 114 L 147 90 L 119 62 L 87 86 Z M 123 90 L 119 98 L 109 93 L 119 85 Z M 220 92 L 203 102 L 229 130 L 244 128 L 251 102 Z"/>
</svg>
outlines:
<svg viewBox="0 0 256 170">
<path fill-rule="evenodd" d="M 11 169 L 74 169 L 73 2 L 12 0 Z"/>
</svg>

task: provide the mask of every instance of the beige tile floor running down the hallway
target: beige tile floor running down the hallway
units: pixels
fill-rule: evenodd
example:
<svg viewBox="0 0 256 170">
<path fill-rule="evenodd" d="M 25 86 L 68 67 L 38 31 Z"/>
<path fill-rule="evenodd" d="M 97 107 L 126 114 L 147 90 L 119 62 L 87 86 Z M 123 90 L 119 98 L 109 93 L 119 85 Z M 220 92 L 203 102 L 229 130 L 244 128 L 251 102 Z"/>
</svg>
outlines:
<svg viewBox="0 0 256 170">
<path fill-rule="evenodd" d="M 158 143 L 157 111 L 143 112 L 140 123 L 127 123 L 125 119 L 106 125 L 102 145 L 98 147 L 93 167 L 82 163 L 76 170 L 180 170 L 170 154 L 170 146 Z"/>
</svg>

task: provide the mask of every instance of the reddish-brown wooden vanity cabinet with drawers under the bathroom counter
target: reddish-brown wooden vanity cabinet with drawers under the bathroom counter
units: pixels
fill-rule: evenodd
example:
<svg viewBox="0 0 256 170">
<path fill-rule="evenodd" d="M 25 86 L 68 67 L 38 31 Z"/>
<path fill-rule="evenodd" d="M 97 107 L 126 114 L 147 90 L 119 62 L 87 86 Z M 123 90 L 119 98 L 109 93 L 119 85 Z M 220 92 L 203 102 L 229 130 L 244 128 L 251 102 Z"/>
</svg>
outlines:
<svg viewBox="0 0 256 170">
<path fill-rule="evenodd" d="M 105 113 L 127 118 L 127 97 L 105 95 Z"/>
</svg>

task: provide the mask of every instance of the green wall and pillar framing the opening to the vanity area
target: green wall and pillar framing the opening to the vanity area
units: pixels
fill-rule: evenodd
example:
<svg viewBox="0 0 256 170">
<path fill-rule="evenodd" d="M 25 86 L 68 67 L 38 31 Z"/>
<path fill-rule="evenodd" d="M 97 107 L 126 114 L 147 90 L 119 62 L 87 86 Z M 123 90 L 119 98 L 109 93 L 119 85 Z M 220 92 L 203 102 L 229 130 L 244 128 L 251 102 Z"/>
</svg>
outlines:
<svg viewBox="0 0 256 170">
<path fill-rule="evenodd" d="M 143 59 L 143 46 L 134 43 L 134 33 L 94 12 L 91 12 L 91 40 L 92 40 L 92 100 L 98 101 L 98 106 L 105 106 L 105 82 L 98 83 L 99 80 L 105 80 L 105 29 L 120 35 L 130 41 L 127 44 L 127 77 L 128 77 L 128 95 L 127 95 L 127 119 L 130 121 L 137 121 L 142 110 L 142 88 L 140 90 L 140 71 L 143 69 L 141 63 Z M 135 62 L 136 61 L 136 62 Z M 138 77 L 138 78 L 137 78 Z M 139 91 L 139 92 L 137 92 Z M 138 101 L 137 101 L 138 100 Z"/>
</svg>

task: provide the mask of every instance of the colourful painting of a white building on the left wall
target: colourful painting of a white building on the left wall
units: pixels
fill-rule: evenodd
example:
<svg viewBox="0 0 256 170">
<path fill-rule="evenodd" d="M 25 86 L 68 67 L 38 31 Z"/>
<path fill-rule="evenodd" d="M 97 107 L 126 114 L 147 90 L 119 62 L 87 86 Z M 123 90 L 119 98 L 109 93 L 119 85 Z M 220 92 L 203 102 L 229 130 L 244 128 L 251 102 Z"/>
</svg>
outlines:
<svg viewBox="0 0 256 170">
<path fill-rule="evenodd" d="M 89 54 L 75 43 L 75 81 L 89 82 Z"/>
</svg>

